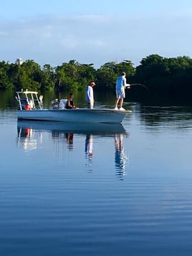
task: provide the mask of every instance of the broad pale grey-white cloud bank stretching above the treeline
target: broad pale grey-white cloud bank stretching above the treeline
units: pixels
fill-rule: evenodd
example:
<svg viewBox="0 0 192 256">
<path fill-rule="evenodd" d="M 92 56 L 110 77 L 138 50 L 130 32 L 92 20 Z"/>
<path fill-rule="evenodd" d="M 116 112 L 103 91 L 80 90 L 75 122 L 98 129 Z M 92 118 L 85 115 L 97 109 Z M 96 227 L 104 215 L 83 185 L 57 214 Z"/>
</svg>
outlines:
<svg viewBox="0 0 192 256">
<path fill-rule="evenodd" d="M 185 13 L 186 14 L 186 13 Z M 2 60 L 17 57 L 40 65 L 77 60 L 100 67 L 148 54 L 191 55 L 191 14 L 182 16 L 78 15 L 0 22 Z M 172 56 L 171 56 L 172 55 Z M 174 56 L 173 56 L 174 57 Z"/>
</svg>

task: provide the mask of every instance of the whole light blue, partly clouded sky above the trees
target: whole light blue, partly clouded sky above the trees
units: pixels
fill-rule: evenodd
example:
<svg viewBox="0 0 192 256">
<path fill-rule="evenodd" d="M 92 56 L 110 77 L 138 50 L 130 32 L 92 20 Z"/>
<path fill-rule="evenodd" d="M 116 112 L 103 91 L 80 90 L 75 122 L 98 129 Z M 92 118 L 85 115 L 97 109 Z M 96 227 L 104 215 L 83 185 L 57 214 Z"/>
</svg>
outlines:
<svg viewBox="0 0 192 256">
<path fill-rule="evenodd" d="M 1 3 L 0 61 L 52 67 L 150 54 L 192 57 L 191 0 L 9 0 Z"/>
</svg>

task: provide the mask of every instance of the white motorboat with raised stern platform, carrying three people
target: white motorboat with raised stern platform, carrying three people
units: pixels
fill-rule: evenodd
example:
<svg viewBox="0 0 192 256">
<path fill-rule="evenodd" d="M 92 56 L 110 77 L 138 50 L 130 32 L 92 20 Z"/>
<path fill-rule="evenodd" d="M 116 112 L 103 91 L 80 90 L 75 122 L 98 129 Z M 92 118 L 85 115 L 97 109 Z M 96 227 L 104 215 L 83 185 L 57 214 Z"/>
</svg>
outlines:
<svg viewBox="0 0 192 256">
<path fill-rule="evenodd" d="M 52 100 L 52 108 L 43 108 L 43 96 L 35 91 L 16 92 L 18 120 L 43 120 L 73 123 L 122 123 L 130 110 L 110 108 L 65 108 L 66 99 Z"/>
</svg>

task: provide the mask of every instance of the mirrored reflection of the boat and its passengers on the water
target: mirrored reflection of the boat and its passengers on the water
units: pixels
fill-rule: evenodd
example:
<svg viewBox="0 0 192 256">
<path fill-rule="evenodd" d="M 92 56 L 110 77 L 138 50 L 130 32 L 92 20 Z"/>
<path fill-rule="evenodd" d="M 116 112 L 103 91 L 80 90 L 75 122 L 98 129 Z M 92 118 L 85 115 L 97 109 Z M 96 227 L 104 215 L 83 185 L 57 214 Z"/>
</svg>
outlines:
<svg viewBox="0 0 192 256">
<path fill-rule="evenodd" d="M 31 151 L 43 147 L 45 132 L 51 133 L 54 143 L 66 141 L 69 151 L 74 149 L 74 136 L 85 136 L 85 158 L 88 160 L 87 166 L 92 171 L 93 141 L 95 136 L 112 137 L 115 141 L 115 170 L 116 175 L 122 178 L 125 176 L 125 164 L 128 163 L 128 153 L 124 151 L 123 137 L 128 137 L 128 133 L 122 124 L 106 123 L 60 123 L 60 122 L 34 122 L 18 120 L 18 146 L 25 151 Z M 57 148 L 57 147 L 56 147 Z"/>
</svg>

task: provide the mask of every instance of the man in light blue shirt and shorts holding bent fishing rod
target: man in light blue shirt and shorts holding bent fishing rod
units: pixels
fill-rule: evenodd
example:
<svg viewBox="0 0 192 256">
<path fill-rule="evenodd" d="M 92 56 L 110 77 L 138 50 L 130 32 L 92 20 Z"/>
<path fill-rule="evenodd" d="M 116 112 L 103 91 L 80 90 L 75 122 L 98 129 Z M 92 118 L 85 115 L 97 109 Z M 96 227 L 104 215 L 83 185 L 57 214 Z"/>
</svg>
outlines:
<svg viewBox="0 0 192 256">
<path fill-rule="evenodd" d="M 117 105 L 120 103 L 120 110 L 125 110 L 123 108 L 123 99 L 125 98 L 125 87 L 130 88 L 130 84 L 127 84 L 125 72 L 122 72 L 120 77 L 116 81 L 116 100 L 115 100 L 115 110 L 117 110 Z"/>
</svg>

